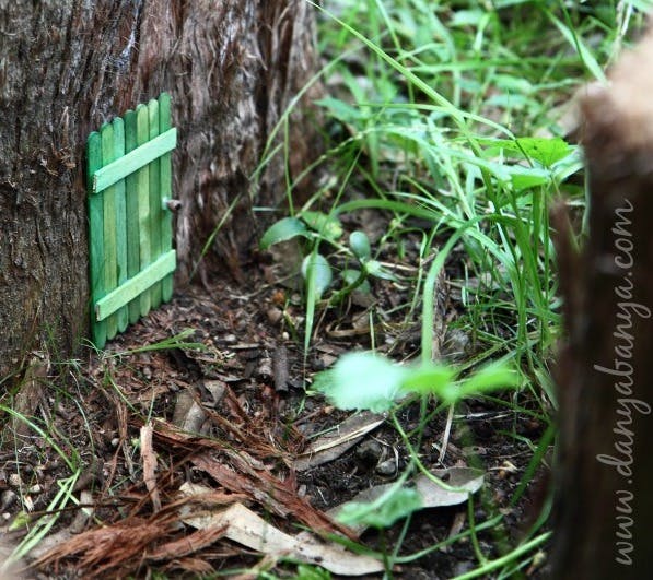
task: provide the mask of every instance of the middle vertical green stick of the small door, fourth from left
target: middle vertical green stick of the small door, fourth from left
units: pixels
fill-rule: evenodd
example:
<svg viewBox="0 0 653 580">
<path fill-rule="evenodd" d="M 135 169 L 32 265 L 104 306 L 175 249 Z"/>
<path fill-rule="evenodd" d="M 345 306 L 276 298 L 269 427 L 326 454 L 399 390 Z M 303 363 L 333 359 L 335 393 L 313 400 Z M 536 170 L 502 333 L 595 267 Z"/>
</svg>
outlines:
<svg viewBox="0 0 653 580">
<path fill-rule="evenodd" d="M 125 153 L 138 146 L 136 111 L 128 110 L 125 116 Z M 132 173 L 125 178 L 127 198 L 127 277 L 133 277 L 140 270 L 140 237 L 138 226 L 138 177 Z M 141 315 L 138 296 L 128 305 L 129 322 L 136 322 Z"/>
</svg>

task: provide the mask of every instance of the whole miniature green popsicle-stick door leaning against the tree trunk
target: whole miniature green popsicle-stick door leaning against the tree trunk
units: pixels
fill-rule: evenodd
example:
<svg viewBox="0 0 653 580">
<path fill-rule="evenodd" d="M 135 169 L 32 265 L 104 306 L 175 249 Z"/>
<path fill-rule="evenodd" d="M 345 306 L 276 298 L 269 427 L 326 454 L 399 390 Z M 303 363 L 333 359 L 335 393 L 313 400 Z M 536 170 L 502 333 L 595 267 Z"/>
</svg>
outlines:
<svg viewBox="0 0 653 580">
<path fill-rule="evenodd" d="M 93 341 L 98 348 L 173 293 L 170 95 L 89 135 L 89 252 Z"/>
</svg>

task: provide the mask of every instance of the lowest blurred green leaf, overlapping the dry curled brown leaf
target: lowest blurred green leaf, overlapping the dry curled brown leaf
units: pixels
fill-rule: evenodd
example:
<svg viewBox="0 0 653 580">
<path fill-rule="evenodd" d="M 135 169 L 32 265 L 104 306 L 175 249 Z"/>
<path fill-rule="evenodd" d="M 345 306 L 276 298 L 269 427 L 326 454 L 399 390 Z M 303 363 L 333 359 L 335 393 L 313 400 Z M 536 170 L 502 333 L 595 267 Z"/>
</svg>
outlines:
<svg viewBox="0 0 653 580">
<path fill-rule="evenodd" d="M 389 528 L 421 507 L 422 500 L 416 489 L 400 487 L 376 501 L 346 504 L 338 513 L 338 520 L 346 525 L 365 525 L 380 530 Z"/>
</svg>

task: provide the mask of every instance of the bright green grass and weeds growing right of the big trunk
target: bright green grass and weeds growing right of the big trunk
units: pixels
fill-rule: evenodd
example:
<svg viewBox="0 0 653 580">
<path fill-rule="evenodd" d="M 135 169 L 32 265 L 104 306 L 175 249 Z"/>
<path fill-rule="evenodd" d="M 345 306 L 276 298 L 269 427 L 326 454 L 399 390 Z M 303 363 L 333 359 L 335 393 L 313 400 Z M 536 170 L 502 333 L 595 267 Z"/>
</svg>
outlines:
<svg viewBox="0 0 653 580">
<path fill-rule="evenodd" d="M 308 211 L 340 221 L 376 209 L 386 213 L 388 226 L 372 240 L 374 257 L 395 252 L 400 261 L 409 237 L 421 240 L 417 273 L 403 281 L 415 293 L 401 310 L 406 324 L 422 315 L 422 362 L 432 355 L 433 291 L 446 264 L 460 289 L 462 313 L 454 324 L 475 345 L 474 357 L 459 368 L 497 358 L 511 363 L 521 388 L 494 402 L 548 426 L 539 439 L 526 440 L 533 455 L 511 499 L 516 504 L 555 440 L 550 368 L 562 322 L 551 203 L 564 199 L 585 223 L 582 156 L 564 140 L 563 105 L 583 83 L 605 80 L 605 68 L 642 29 L 641 11 L 653 2 L 324 0 L 314 5 L 319 51 L 330 58 L 323 71 L 329 96 L 318 103 L 330 149 L 315 165 L 335 177 L 301 206 L 289 179 L 293 227 Z M 323 256 L 336 272 L 360 258 L 324 229 L 285 233 L 302 236 L 306 255 Z M 306 280 L 308 350 L 317 311 L 335 306 L 329 296 L 352 288 L 335 275 L 330 287 L 316 293 L 314 277 Z M 540 558 L 549 507 L 499 558 L 489 560 L 477 551 L 478 568 L 460 578 L 506 578 Z M 473 536 L 475 525 L 482 522 L 471 523 Z M 401 561 L 399 547 L 392 548 L 394 561 Z"/>
</svg>

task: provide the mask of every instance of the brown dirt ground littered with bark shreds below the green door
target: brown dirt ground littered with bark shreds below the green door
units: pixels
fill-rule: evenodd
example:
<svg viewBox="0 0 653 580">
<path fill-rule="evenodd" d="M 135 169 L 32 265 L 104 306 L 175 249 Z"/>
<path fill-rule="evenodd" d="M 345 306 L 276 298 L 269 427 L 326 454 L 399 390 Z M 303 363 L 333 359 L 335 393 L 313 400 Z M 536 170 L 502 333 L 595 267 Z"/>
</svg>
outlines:
<svg viewBox="0 0 653 580">
<path fill-rule="evenodd" d="M 254 578 L 266 570 L 293 577 L 296 565 L 279 553 L 264 555 L 247 547 L 226 531 L 229 522 L 201 526 L 183 517 L 184 510 L 198 516 L 234 504 L 289 535 L 311 529 L 371 548 L 383 542 L 394 546 L 404 533 L 401 523 L 382 536 L 373 530 L 359 536 L 325 513 L 361 490 L 396 481 L 407 465 L 408 452 L 389 422 L 372 417 L 378 425 L 351 436 L 349 448 L 336 448 L 330 461 L 306 466 L 298 458 L 310 461 L 313 455 L 305 451 L 312 442 L 352 415 L 306 393 L 313 375 L 345 352 L 369 348 L 371 332 L 364 321 L 370 320 L 370 309 L 389 312 L 406 299 L 399 294 L 408 288 L 375 282 L 369 304 L 358 300 L 362 305 L 349 303 L 320 313 L 304 360 L 293 329 L 303 323 L 301 298 L 277 282 L 272 263 L 269 256 L 253 261 L 246 285 L 205 280 L 201 287 L 178 288 L 172 303 L 119 335 L 102 356 L 84 348 L 78 362 L 50 357 L 37 365 L 40 372 L 30 382 L 30 409 L 43 419 L 40 425 L 47 425 L 51 440 L 14 424 L 12 437 L 4 431 L 0 453 L 5 541 L 16 545 L 27 529 L 38 528 L 40 517 L 54 514 L 51 529 L 26 560 L 31 567 L 23 570 L 24 577 L 190 578 L 229 572 Z M 439 291 L 443 345 L 455 317 L 453 287 L 442 281 Z M 415 356 L 419 321 L 406 327 L 392 313 L 378 319 L 384 325 L 374 329 L 376 347 L 397 359 Z M 147 347 L 185 331 L 184 343 L 201 348 Z M 435 402 L 431 405 L 435 409 Z M 418 403 L 403 406 L 399 421 L 405 430 L 417 427 L 419 419 Z M 474 495 L 474 518 L 478 524 L 503 514 L 500 526 L 478 535 L 485 556 L 498 557 L 539 513 L 545 473 L 538 473 L 515 506 L 510 499 L 532 458 L 527 441 L 537 441 L 545 426 L 480 400 L 455 410 L 445 440 L 446 426 L 446 412 L 432 416 L 420 457 L 430 469 L 482 470 L 485 483 Z M 72 469 L 61 455 L 70 459 Z M 69 481 L 75 470 L 79 476 L 61 501 L 61 481 Z M 180 495 L 190 484 L 201 489 L 201 499 Z M 28 528 L 11 530 L 23 507 L 28 509 L 23 517 Z M 466 501 L 419 510 L 399 556 L 424 551 L 466 529 Z M 408 560 L 396 566 L 396 577 L 445 579 L 478 565 L 469 537 Z M 249 567 L 254 571 L 247 572 Z M 546 567 L 523 573 L 545 577 Z M 362 577 L 378 578 L 381 572 Z"/>
</svg>

